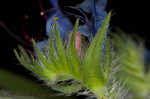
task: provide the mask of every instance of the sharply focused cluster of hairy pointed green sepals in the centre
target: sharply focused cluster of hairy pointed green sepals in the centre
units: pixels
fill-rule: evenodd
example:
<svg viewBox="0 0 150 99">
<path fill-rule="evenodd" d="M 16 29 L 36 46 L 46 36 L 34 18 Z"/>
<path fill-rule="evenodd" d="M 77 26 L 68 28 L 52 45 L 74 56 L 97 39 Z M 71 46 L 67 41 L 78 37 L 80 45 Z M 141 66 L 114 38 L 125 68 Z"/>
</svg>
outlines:
<svg viewBox="0 0 150 99">
<path fill-rule="evenodd" d="M 72 94 L 84 88 L 93 92 L 99 99 L 107 97 L 105 87 L 110 75 L 111 51 L 108 48 L 109 44 L 107 44 L 108 46 L 106 46 L 104 54 L 103 41 L 106 39 L 105 35 L 110 16 L 111 14 L 109 13 L 83 59 L 80 59 L 75 47 L 75 37 L 79 24 L 78 20 L 76 21 L 73 35 L 67 48 L 63 45 L 57 29 L 56 20 L 54 20 L 54 25 L 51 27 L 50 42 L 46 52 L 40 51 L 33 40 L 37 54 L 36 58 L 32 55 L 27 55 L 20 46 L 20 55 L 16 50 L 15 54 L 22 65 L 57 91 Z M 52 40 L 54 34 L 53 28 L 55 29 L 55 41 Z M 102 54 L 104 54 L 104 62 L 100 59 Z"/>
</svg>

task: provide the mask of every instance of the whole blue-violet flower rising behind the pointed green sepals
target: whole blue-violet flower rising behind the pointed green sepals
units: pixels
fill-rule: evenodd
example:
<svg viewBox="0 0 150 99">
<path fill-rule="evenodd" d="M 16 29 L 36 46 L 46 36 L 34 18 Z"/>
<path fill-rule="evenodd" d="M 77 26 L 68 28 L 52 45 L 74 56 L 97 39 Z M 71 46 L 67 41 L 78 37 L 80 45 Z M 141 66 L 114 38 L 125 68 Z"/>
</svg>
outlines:
<svg viewBox="0 0 150 99">
<path fill-rule="evenodd" d="M 79 0 L 81 1 L 81 0 Z M 75 6 L 68 5 L 65 6 L 67 8 L 75 9 L 80 12 L 83 16 L 78 15 L 76 13 L 62 11 L 59 6 L 59 2 L 71 2 L 68 0 L 50 0 L 50 3 L 53 6 L 53 10 L 49 12 L 49 17 L 46 23 L 46 34 L 49 36 L 50 27 L 52 25 L 52 18 L 57 17 L 57 26 L 60 36 L 63 41 L 68 38 L 68 35 L 72 32 L 74 24 L 71 22 L 69 17 L 75 17 L 75 19 L 79 19 L 84 24 L 79 25 L 78 32 L 81 35 L 86 36 L 89 41 L 93 39 L 97 30 L 103 24 L 105 17 L 107 16 L 107 12 L 105 11 L 107 0 L 83 0 L 80 4 L 76 4 Z M 87 14 L 90 14 L 88 17 Z M 43 41 L 48 42 L 48 41 Z M 40 42 L 38 43 L 39 48 L 43 48 L 47 43 Z M 45 45 L 44 45 L 45 44 Z"/>
</svg>

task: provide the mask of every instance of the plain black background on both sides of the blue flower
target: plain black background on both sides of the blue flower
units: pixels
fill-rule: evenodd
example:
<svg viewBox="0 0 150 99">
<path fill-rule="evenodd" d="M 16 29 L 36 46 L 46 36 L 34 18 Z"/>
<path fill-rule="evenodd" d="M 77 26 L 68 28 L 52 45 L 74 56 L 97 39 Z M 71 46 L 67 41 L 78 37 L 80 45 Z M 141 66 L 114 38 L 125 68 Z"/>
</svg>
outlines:
<svg viewBox="0 0 150 99">
<path fill-rule="evenodd" d="M 75 2 L 72 3 L 74 4 Z M 148 4 L 146 0 L 108 0 L 106 10 L 113 12 L 112 30 L 119 27 L 129 35 L 134 33 L 141 37 L 145 41 L 146 48 L 150 49 Z M 49 0 L 0 1 L 0 69 L 35 79 L 29 71 L 19 65 L 13 49 L 18 44 L 32 49 L 28 45 L 30 44 L 28 36 L 39 41 L 47 38 L 45 31 L 47 13 L 43 15 L 43 11 L 48 11 L 51 7 Z"/>
</svg>

